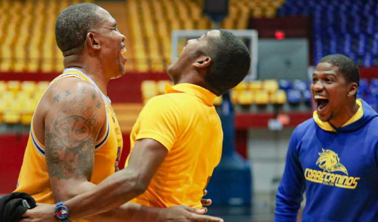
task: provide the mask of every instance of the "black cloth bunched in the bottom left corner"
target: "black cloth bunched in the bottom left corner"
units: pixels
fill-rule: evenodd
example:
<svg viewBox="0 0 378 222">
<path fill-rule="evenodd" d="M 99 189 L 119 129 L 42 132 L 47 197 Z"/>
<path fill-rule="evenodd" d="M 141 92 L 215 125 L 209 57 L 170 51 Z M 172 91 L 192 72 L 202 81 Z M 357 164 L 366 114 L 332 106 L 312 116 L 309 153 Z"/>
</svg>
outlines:
<svg viewBox="0 0 378 222">
<path fill-rule="evenodd" d="M 36 207 L 35 200 L 27 193 L 11 193 L 0 198 L 0 222 L 18 222 L 28 209 L 22 204 L 26 200 L 30 208 Z"/>
</svg>

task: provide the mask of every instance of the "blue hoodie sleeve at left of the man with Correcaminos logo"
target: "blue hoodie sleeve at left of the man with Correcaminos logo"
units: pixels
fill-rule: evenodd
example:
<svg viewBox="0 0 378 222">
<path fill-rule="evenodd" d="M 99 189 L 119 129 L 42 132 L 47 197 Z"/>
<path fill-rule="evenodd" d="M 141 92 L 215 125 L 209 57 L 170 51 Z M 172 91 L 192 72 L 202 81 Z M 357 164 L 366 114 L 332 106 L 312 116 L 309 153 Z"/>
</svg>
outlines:
<svg viewBox="0 0 378 222">
<path fill-rule="evenodd" d="M 276 194 L 275 222 L 297 221 L 298 209 L 303 199 L 305 179 L 297 152 L 296 132 L 294 130 L 290 138 L 285 170 Z"/>
</svg>

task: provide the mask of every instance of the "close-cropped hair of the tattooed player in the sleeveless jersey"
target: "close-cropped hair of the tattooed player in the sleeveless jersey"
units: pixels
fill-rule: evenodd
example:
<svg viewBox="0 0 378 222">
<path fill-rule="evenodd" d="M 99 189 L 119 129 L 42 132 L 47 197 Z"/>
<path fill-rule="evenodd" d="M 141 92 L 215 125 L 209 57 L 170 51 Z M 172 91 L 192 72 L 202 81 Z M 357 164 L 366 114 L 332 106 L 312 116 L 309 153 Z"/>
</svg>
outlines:
<svg viewBox="0 0 378 222">
<path fill-rule="evenodd" d="M 64 9 L 56 19 L 56 44 L 63 54 L 80 51 L 90 28 L 99 24 L 96 14 L 99 6 L 92 3 L 80 3 Z"/>
</svg>

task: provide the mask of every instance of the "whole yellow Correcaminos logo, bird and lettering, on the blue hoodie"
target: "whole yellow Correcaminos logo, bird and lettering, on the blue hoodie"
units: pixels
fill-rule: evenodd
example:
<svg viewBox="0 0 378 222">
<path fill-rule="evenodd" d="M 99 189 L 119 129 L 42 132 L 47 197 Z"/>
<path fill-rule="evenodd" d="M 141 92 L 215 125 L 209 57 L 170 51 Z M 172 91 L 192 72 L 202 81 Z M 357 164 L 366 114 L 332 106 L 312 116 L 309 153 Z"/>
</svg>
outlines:
<svg viewBox="0 0 378 222">
<path fill-rule="evenodd" d="M 336 186 L 347 189 L 355 189 L 359 177 L 349 177 L 347 169 L 340 162 L 337 153 L 330 149 L 323 149 L 318 153 L 319 158 L 316 162 L 322 171 L 306 168 L 304 177 L 306 180 L 324 184 L 327 186 Z M 333 174 L 332 172 L 342 172 L 343 174 Z"/>
</svg>

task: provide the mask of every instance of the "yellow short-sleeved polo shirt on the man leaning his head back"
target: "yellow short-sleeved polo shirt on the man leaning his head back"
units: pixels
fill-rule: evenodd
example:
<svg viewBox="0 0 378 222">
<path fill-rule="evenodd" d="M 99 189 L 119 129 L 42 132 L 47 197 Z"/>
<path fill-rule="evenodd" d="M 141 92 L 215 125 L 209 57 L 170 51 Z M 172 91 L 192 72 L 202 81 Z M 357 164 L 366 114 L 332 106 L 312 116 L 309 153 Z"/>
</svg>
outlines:
<svg viewBox="0 0 378 222">
<path fill-rule="evenodd" d="M 136 140 L 150 138 L 164 145 L 168 154 L 147 191 L 133 202 L 202 207 L 203 190 L 222 154 L 223 131 L 213 106 L 215 97 L 205 88 L 182 83 L 166 85 L 165 94 L 146 103 L 130 135 L 131 149 Z"/>
</svg>

